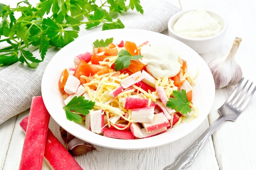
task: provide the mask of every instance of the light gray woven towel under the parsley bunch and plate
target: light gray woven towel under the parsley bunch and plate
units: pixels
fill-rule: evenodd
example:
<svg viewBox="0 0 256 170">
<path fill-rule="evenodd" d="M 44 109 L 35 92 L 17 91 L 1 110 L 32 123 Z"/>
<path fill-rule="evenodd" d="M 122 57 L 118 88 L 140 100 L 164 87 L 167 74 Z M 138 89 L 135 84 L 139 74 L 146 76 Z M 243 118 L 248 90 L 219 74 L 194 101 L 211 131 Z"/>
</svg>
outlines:
<svg viewBox="0 0 256 170">
<path fill-rule="evenodd" d="M 125 28 L 160 33 L 167 29 L 169 18 L 181 10 L 168 0 L 141 0 L 141 6 L 144 9 L 143 15 L 134 10 L 119 17 Z M 85 30 L 81 27 L 79 37 L 100 30 L 101 28 Z M 41 95 L 41 80 L 45 67 L 57 51 L 56 48 L 49 48 L 44 61 L 36 69 L 19 62 L 0 67 L 0 124 L 30 108 L 32 97 Z M 38 49 L 33 54 L 40 56 Z"/>
</svg>

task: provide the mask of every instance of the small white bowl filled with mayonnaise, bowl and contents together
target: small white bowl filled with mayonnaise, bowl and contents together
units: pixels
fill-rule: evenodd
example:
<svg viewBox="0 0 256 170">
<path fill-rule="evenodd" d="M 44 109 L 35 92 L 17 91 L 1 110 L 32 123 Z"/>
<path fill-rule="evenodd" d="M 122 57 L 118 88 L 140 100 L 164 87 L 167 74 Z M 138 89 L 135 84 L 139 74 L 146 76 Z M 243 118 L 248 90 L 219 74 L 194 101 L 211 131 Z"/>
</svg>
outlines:
<svg viewBox="0 0 256 170">
<path fill-rule="evenodd" d="M 220 46 L 226 30 L 225 18 L 208 10 L 183 10 L 168 21 L 168 35 L 190 46 L 198 54 Z"/>
</svg>

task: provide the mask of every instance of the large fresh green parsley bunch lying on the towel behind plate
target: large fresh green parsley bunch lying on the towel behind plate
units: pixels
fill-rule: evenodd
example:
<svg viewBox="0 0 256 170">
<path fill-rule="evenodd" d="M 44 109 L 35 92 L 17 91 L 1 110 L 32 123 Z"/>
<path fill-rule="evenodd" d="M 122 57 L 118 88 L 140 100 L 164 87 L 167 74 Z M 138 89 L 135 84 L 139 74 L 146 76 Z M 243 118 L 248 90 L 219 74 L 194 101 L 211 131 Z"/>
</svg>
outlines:
<svg viewBox="0 0 256 170">
<path fill-rule="evenodd" d="M 0 66 L 22 62 L 36 68 L 50 46 L 62 48 L 74 41 L 80 25 L 124 28 L 117 17 L 128 9 L 143 14 L 139 0 L 130 0 L 128 5 L 126 0 L 40 0 L 36 7 L 23 0 L 15 8 L 0 3 L 0 43 L 9 44 L 0 49 Z M 29 46 L 39 48 L 40 58 L 34 57 Z"/>
</svg>

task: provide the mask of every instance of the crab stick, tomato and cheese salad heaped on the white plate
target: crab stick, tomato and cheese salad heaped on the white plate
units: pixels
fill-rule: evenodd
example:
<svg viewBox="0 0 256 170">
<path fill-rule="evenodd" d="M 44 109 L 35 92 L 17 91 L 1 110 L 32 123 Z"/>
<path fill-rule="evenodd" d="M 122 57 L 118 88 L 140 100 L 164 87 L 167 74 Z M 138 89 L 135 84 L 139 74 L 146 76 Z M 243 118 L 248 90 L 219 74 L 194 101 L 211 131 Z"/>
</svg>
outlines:
<svg viewBox="0 0 256 170">
<path fill-rule="evenodd" d="M 159 47 L 148 41 L 114 43 L 108 38 L 93 44 L 92 52 L 74 57 L 75 68 L 65 68 L 60 75 L 67 119 L 106 137 L 140 139 L 197 116 L 192 103 L 194 80 L 179 55 L 170 61 L 175 66 L 156 67 L 161 77 L 150 66 L 161 60 L 155 52 Z M 170 72 L 173 75 L 164 74 Z"/>
</svg>

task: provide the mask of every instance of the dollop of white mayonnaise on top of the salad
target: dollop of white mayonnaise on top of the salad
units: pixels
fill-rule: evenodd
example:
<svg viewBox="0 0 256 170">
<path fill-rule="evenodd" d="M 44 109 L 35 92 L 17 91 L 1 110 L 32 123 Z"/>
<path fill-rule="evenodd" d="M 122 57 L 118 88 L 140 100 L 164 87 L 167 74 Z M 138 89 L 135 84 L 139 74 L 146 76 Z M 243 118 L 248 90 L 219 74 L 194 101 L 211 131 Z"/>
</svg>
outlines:
<svg viewBox="0 0 256 170">
<path fill-rule="evenodd" d="M 173 77 L 180 72 L 179 55 L 170 46 L 144 46 L 141 62 L 155 78 Z"/>
</svg>

